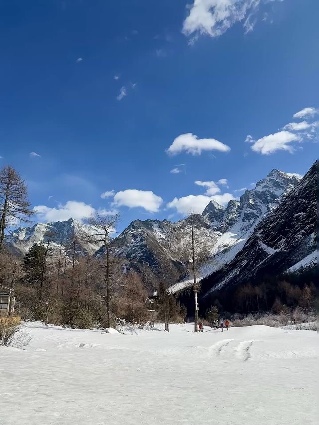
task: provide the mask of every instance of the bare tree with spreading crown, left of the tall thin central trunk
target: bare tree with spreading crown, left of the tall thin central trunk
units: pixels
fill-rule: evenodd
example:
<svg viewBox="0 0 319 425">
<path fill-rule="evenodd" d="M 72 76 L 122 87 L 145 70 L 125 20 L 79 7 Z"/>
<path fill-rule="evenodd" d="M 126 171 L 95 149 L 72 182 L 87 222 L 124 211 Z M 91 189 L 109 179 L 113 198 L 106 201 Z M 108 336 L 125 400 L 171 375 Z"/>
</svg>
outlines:
<svg viewBox="0 0 319 425">
<path fill-rule="evenodd" d="M 111 298 L 110 298 L 110 278 L 111 278 L 111 256 L 110 256 L 110 243 L 112 241 L 112 234 L 115 233 L 116 223 L 119 221 L 119 214 L 114 216 L 103 215 L 96 212 L 89 220 L 90 226 L 96 229 L 96 233 L 85 236 L 85 239 L 91 243 L 102 242 L 105 248 L 105 303 L 106 303 L 106 324 L 107 327 L 111 325 Z"/>
</svg>

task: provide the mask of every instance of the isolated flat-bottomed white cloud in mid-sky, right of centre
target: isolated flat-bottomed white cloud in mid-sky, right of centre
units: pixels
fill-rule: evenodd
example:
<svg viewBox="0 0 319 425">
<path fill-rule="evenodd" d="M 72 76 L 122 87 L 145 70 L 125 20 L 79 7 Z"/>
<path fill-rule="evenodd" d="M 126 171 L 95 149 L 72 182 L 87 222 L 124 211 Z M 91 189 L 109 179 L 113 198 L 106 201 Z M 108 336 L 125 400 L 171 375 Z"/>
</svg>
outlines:
<svg viewBox="0 0 319 425">
<path fill-rule="evenodd" d="M 198 136 L 192 133 L 186 133 L 176 137 L 172 145 L 167 149 L 167 153 L 177 155 L 185 151 L 191 155 L 200 155 L 204 150 L 229 152 L 230 147 L 216 139 L 199 139 Z"/>
</svg>

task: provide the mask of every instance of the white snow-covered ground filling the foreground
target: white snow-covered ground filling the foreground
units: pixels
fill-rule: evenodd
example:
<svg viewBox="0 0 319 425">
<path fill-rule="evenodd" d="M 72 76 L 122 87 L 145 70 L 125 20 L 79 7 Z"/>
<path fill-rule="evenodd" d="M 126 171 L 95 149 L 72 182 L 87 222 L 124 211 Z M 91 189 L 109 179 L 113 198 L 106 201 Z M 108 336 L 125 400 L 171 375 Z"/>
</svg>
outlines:
<svg viewBox="0 0 319 425">
<path fill-rule="evenodd" d="M 25 326 L 30 347 L 0 347 L 1 425 L 317 423 L 316 332 Z"/>
</svg>

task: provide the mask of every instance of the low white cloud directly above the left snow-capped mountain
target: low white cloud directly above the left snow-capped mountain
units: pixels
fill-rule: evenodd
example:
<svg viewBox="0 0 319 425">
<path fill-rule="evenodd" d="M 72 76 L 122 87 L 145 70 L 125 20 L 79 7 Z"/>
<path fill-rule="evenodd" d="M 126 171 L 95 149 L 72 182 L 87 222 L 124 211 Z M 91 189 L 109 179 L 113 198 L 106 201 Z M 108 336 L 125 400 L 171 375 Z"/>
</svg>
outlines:
<svg viewBox="0 0 319 425">
<path fill-rule="evenodd" d="M 91 217 L 95 209 L 91 205 L 84 202 L 67 201 L 64 205 L 59 204 L 57 208 L 50 208 L 46 205 L 38 205 L 34 207 L 34 211 L 39 221 L 65 221 L 70 217 L 75 220 L 82 220 Z"/>
</svg>

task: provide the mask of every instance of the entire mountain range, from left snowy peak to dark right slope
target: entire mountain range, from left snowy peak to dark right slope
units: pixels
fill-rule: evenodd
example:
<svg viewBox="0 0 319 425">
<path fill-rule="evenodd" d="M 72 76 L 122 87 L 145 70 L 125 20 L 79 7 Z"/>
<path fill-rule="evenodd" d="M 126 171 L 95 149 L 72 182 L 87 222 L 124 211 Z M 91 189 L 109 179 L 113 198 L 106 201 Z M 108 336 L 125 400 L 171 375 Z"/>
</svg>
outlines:
<svg viewBox="0 0 319 425">
<path fill-rule="evenodd" d="M 165 273 L 171 290 L 179 292 L 192 284 L 188 276 L 191 222 L 196 249 L 201 251 L 197 279 L 206 278 L 201 297 L 266 271 L 282 273 L 312 265 L 316 261 L 316 164 L 301 181 L 274 169 L 226 208 L 212 200 L 202 214 L 176 223 L 135 220 L 112 241 L 112 254 L 123 259 L 125 270 L 150 268 L 159 277 Z M 104 255 L 104 247 L 83 237 L 95 229 L 72 219 L 19 228 L 7 244 L 25 254 L 34 243 L 45 241 L 48 232 L 54 234 L 57 249 L 62 243 L 70 250 L 76 239 L 78 255 Z"/>
</svg>

